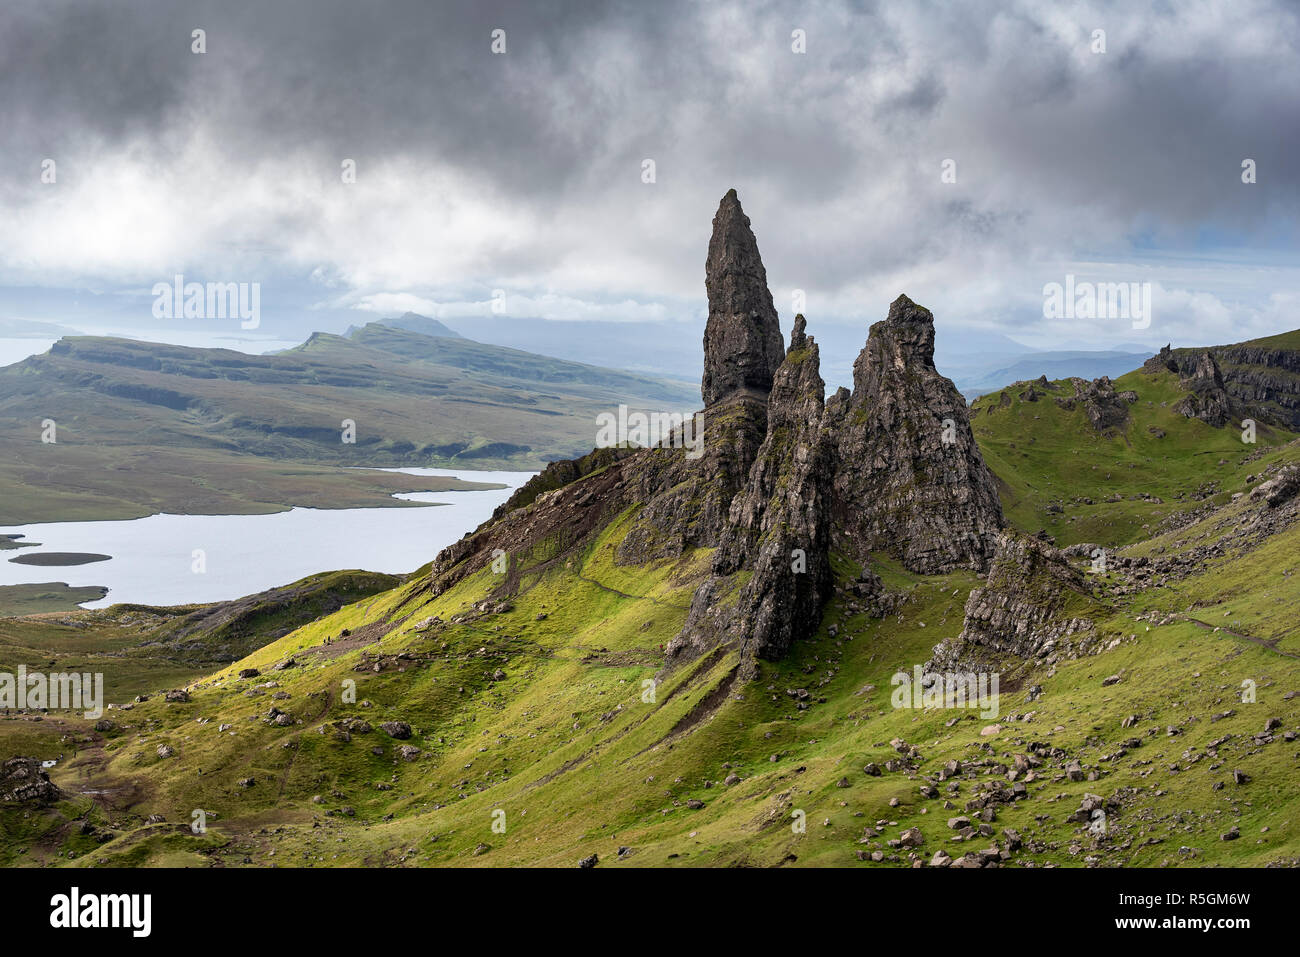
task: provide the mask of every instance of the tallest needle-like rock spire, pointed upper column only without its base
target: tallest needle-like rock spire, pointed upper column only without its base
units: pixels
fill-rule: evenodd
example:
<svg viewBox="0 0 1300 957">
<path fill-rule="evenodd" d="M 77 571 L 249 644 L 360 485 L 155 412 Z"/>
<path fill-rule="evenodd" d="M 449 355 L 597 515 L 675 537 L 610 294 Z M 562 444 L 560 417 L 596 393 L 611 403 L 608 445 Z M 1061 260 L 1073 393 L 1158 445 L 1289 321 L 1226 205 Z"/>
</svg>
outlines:
<svg viewBox="0 0 1300 957">
<path fill-rule="evenodd" d="M 728 190 L 714 216 L 705 261 L 708 324 L 705 326 L 705 406 L 732 395 L 766 398 L 785 358 L 776 307 L 758 241 L 736 190 Z"/>
</svg>

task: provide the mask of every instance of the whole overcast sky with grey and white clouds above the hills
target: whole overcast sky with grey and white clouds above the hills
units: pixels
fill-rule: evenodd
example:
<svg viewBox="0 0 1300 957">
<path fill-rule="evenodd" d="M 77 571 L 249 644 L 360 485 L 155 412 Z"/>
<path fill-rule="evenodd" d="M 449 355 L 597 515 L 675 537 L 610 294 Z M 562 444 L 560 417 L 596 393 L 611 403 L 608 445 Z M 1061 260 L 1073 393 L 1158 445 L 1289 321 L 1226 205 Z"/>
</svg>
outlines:
<svg viewBox="0 0 1300 957">
<path fill-rule="evenodd" d="M 147 334 L 183 273 L 260 282 L 285 338 L 499 289 L 512 316 L 663 320 L 698 348 L 734 186 L 786 329 L 797 289 L 814 334 L 864 335 L 901 291 L 941 338 L 1300 326 L 1280 0 L 5 0 L 0 83 L 0 319 Z M 1150 282 L 1150 328 L 1044 319 L 1067 273 Z"/>
</svg>

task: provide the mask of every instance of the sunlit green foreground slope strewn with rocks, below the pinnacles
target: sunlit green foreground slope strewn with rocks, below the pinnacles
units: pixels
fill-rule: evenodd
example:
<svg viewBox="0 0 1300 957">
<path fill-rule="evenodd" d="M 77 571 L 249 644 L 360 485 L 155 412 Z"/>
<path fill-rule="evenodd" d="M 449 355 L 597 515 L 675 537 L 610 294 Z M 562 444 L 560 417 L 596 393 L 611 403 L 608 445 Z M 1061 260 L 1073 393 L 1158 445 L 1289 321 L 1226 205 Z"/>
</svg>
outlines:
<svg viewBox="0 0 1300 957">
<path fill-rule="evenodd" d="M 1297 446 L 1274 454 L 1300 460 Z M 1152 547 L 1227 534 L 1243 507 Z M 1300 754 L 1282 737 L 1300 728 L 1287 589 L 1300 528 L 1117 599 L 1097 612 L 1102 654 L 1018 676 L 996 719 L 890 706 L 890 676 L 961 629 L 979 579 L 887 562 L 876 570 L 905 594 L 897 614 L 854 615 L 840 597 L 815 640 L 754 683 L 733 684 L 734 661 L 719 654 L 647 700 L 708 555 L 619 567 L 625 528 L 569 554 L 541 542 L 512 557 L 508 586 L 485 568 L 430 599 L 412 579 L 194 681 L 188 702 L 155 696 L 114 714 L 108 732 L 68 716 L 0 722 L 29 753 L 79 741 L 52 774 L 68 800 L 4 813 L 3 853 L 32 865 L 573 866 L 597 854 L 602 867 L 870 867 L 910 865 L 896 843 L 919 828 L 926 861 L 991 845 L 1011 866 L 1300 857 Z M 857 572 L 837 563 L 841 583 Z M 248 667 L 261 674 L 237 677 Z M 1238 698 L 1247 679 L 1253 703 Z M 278 711 L 287 723 L 268 719 Z M 1027 772 L 1013 774 L 1017 755 Z M 1100 839 L 1074 819 L 1087 793 L 1105 800 Z M 204 835 L 187 828 L 194 809 L 208 811 Z M 146 823 L 155 814 L 165 820 Z M 970 823 L 949 824 L 959 817 Z"/>
</svg>

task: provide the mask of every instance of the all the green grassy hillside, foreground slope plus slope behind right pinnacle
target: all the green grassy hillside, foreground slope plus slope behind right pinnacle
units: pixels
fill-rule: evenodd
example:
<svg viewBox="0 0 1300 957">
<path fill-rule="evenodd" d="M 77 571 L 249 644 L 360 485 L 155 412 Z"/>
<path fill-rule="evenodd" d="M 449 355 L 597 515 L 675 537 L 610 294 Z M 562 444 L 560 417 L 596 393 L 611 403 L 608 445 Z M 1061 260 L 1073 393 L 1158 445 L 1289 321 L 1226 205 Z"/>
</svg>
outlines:
<svg viewBox="0 0 1300 957">
<path fill-rule="evenodd" d="M 640 506 L 588 538 L 540 515 L 558 484 L 595 488 L 594 462 L 516 499 L 512 528 L 552 533 L 437 597 L 426 567 L 298 620 L 248 601 L 230 620 L 261 627 L 243 637 L 161 610 L 133 636 L 122 607 L 103 627 L 0 622 L 26 642 L 16 661 L 78 662 L 83 631 L 129 675 L 108 724 L 0 718 L 8 753 L 62 755 L 60 801 L 0 806 L 0 862 L 1300 865 L 1300 521 L 1251 494 L 1300 467 L 1300 439 L 1243 445 L 1184 417 L 1173 373 L 1117 389 L 1124 413 L 1101 430 L 1056 400 L 1067 381 L 972 410 L 1011 524 L 1115 559 L 1062 611 L 1091 623 L 1095 653 L 1004 668 L 992 710 L 900 707 L 892 680 L 956 638 L 992 580 L 880 557 L 885 618 L 859 610 L 862 568 L 835 557 L 835 597 L 786 659 L 745 681 L 719 649 L 666 674 L 711 551 L 620 566 Z M 247 653 L 192 667 L 177 651 L 196 624 L 209 661 Z"/>
</svg>

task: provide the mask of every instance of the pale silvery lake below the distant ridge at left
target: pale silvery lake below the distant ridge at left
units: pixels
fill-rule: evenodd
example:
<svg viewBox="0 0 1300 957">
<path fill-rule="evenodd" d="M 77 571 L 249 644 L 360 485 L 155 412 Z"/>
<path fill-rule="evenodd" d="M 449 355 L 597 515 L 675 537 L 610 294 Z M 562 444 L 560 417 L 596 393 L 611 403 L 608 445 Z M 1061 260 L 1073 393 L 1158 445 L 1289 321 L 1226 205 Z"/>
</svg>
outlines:
<svg viewBox="0 0 1300 957">
<path fill-rule="evenodd" d="M 430 562 L 491 518 L 533 472 L 390 468 L 406 475 L 455 476 L 500 482 L 484 492 L 415 492 L 395 495 L 425 507 L 291 508 L 269 515 L 151 515 L 127 521 L 56 521 L 0 527 L 0 534 L 42 547 L 0 551 L 0 585 L 64 581 L 104 585 L 108 596 L 83 607 L 114 602 L 190 605 L 239 598 L 307 575 L 339 568 L 402 575 Z M 204 571 L 195 571 L 202 550 Z M 107 562 L 42 567 L 10 558 L 46 551 L 100 553 Z"/>
</svg>

